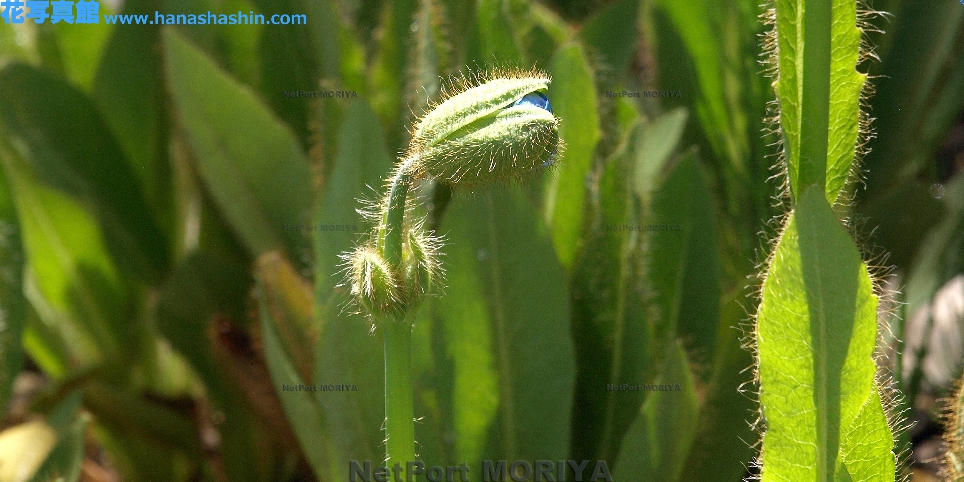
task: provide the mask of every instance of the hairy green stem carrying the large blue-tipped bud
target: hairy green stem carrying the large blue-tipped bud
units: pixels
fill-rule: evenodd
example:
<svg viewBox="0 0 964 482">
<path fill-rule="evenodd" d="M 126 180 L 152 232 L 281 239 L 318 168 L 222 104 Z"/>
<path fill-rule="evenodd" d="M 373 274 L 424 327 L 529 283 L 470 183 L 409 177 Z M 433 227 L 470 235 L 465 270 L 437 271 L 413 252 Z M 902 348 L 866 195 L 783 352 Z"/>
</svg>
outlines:
<svg viewBox="0 0 964 482">
<path fill-rule="evenodd" d="M 388 267 L 400 275 L 402 233 L 405 228 L 405 202 L 412 184 L 410 167 L 414 158 L 405 159 L 391 179 L 388 205 L 378 236 L 378 250 Z M 385 435 L 386 466 L 398 464 L 403 480 L 409 462 L 415 462 L 415 414 L 412 396 L 412 322 L 408 316 L 382 323 L 385 336 Z M 412 478 L 414 480 L 414 477 Z"/>
</svg>

